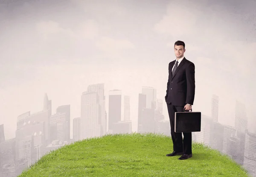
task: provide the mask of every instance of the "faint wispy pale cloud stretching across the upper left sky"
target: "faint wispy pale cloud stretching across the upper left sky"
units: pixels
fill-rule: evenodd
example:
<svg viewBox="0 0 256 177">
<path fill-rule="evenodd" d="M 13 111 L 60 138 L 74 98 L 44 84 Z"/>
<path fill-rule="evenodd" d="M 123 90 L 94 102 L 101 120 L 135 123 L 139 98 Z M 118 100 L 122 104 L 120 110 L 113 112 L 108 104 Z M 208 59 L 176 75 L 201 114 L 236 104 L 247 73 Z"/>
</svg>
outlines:
<svg viewBox="0 0 256 177">
<path fill-rule="evenodd" d="M 99 48 L 105 54 L 118 55 L 120 52 L 126 49 L 133 49 L 134 44 L 125 39 L 113 39 L 111 37 L 100 37 L 99 27 L 95 20 L 86 20 L 78 25 L 75 29 L 62 28 L 59 23 L 54 21 L 39 22 L 36 25 L 39 34 L 44 37 L 45 40 L 58 42 L 58 37 L 67 38 L 76 41 L 81 39 L 89 39 L 93 42 L 96 48 Z M 64 35 L 64 36 L 58 36 Z M 54 39 L 53 39 L 54 37 Z M 57 39 L 56 39 L 57 37 Z M 61 44 L 58 44 L 61 45 Z M 70 45 L 70 44 L 67 44 Z"/>
</svg>

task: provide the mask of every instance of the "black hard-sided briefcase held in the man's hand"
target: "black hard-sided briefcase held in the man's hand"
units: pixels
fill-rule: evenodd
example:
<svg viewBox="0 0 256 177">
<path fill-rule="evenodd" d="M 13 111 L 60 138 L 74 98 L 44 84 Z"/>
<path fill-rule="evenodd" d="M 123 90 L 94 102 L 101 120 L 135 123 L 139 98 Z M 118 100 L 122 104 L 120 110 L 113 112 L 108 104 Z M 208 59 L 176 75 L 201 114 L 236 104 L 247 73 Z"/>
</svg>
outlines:
<svg viewBox="0 0 256 177">
<path fill-rule="evenodd" d="M 175 112 L 175 132 L 201 132 L 201 112 Z"/>
</svg>

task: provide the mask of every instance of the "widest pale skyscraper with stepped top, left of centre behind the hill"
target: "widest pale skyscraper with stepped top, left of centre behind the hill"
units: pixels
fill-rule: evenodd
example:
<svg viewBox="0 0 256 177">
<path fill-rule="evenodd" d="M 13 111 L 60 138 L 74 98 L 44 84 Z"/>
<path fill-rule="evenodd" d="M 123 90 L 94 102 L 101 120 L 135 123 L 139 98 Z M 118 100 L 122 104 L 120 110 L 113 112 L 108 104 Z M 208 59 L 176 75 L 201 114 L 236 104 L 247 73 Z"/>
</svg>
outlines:
<svg viewBox="0 0 256 177">
<path fill-rule="evenodd" d="M 93 84 L 81 96 L 81 139 L 105 135 L 104 84 Z"/>
</svg>

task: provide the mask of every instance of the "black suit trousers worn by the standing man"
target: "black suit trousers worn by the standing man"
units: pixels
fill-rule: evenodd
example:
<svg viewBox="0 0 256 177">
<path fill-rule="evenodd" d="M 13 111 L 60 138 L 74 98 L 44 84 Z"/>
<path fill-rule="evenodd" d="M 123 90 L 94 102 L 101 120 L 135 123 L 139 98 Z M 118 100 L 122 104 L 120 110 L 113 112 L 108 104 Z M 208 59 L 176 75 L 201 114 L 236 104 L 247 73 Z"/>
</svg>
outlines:
<svg viewBox="0 0 256 177">
<path fill-rule="evenodd" d="M 173 143 L 173 151 L 183 152 L 183 154 L 192 154 L 192 133 L 182 132 L 184 138 L 182 139 L 182 133 L 176 133 L 175 127 L 175 112 L 183 112 L 184 106 L 174 106 L 167 103 L 170 124 L 171 124 L 171 136 Z"/>
</svg>

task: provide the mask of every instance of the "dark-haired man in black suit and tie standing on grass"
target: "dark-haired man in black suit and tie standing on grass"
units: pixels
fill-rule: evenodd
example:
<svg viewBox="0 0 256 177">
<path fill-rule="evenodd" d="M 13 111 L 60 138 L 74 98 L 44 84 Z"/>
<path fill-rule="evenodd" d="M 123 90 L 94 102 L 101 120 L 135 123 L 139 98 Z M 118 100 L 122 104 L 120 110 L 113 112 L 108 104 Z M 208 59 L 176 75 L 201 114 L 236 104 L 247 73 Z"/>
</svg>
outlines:
<svg viewBox="0 0 256 177">
<path fill-rule="evenodd" d="M 174 131 L 175 112 L 192 110 L 195 98 L 195 65 L 184 57 L 185 43 L 177 41 L 174 44 L 176 59 L 169 63 L 169 77 L 166 90 L 173 152 L 166 156 L 182 155 L 179 160 L 192 157 L 192 133 L 176 133 Z"/>
</svg>

